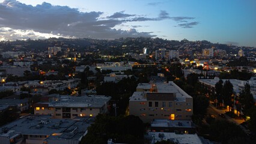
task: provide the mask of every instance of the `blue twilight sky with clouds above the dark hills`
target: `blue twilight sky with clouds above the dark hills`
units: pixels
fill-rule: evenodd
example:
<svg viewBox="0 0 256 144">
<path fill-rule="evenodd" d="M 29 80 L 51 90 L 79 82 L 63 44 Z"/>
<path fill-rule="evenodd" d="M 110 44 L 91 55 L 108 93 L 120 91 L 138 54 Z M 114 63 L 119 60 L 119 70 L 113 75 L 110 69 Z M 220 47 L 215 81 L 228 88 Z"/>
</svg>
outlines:
<svg viewBox="0 0 256 144">
<path fill-rule="evenodd" d="M 255 0 L 0 0 L 0 41 L 160 37 L 256 47 Z"/>
</svg>

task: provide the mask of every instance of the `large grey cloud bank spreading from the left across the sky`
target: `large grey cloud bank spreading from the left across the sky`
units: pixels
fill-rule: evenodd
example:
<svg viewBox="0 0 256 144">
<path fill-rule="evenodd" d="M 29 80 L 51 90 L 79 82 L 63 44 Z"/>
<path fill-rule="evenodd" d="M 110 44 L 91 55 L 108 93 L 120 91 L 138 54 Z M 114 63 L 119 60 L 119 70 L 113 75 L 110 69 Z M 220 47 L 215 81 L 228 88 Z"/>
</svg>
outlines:
<svg viewBox="0 0 256 144">
<path fill-rule="evenodd" d="M 153 32 L 138 32 L 131 26 L 125 31 L 115 26 L 127 22 L 143 22 L 171 19 L 176 22 L 194 19 L 193 17 L 170 17 L 166 11 L 160 11 L 158 17 L 141 17 L 136 14 L 116 12 L 101 18 L 102 11 L 80 12 L 77 8 L 51 5 L 22 4 L 15 0 L 0 3 L 0 40 L 16 40 L 27 38 L 67 37 L 67 38 L 120 38 L 120 37 L 156 37 Z M 187 21 L 186 21 L 187 22 Z M 192 28 L 197 22 L 181 28 Z"/>
</svg>

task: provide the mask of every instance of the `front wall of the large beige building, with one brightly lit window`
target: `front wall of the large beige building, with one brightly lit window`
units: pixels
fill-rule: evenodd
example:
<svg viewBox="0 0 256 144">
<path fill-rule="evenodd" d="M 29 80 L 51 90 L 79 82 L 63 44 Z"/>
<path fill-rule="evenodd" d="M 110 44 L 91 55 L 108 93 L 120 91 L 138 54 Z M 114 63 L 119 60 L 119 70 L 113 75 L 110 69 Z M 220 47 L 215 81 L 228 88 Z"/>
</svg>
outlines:
<svg viewBox="0 0 256 144">
<path fill-rule="evenodd" d="M 174 119 L 189 120 L 193 115 L 193 98 L 186 98 L 186 102 L 130 101 L 129 109 L 130 115 L 139 116 L 143 122 L 150 122 L 153 119 L 172 119 L 171 114 L 174 115 Z"/>
</svg>

